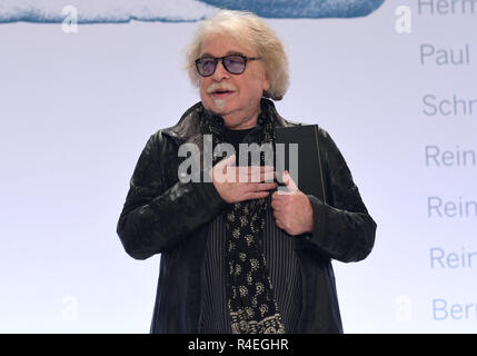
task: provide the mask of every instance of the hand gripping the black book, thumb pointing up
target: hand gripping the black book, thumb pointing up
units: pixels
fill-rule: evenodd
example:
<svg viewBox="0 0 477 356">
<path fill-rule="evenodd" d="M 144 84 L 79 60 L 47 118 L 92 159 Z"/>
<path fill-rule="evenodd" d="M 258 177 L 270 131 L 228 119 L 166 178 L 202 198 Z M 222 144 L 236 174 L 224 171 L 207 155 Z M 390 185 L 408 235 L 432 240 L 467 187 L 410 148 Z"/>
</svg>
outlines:
<svg viewBox="0 0 477 356">
<path fill-rule="evenodd" d="M 298 189 L 288 171 L 282 180 L 286 191 L 275 191 L 271 196 L 275 222 L 289 235 L 311 233 L 314 229 L 314 210 L 308 197 Z"/>
</svg>

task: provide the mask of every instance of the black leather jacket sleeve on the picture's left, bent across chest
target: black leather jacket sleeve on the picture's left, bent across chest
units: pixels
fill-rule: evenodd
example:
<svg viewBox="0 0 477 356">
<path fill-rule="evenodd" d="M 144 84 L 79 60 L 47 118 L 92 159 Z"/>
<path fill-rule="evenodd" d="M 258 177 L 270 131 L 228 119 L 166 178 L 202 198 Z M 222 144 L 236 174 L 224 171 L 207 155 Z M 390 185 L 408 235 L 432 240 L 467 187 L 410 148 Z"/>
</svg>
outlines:
<svg viewBox="0 0 477 356">
<path fill-rule="evenodd" d="M 165 170 L 173 166 L 168 160 L 177 159 L 175 146 L 161 131 L 152 135 L 130 179 L 117 233 L 136 259 L 172 248 L 227 207 L 212 182 L 167 186 Z"/>
</svg>

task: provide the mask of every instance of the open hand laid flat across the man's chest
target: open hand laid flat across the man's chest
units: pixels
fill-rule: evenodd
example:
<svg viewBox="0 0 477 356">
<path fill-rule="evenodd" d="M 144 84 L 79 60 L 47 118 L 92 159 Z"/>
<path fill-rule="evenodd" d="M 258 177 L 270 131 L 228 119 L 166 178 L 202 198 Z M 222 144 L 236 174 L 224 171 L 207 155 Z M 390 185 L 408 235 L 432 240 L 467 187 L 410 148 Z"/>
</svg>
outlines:
<svg viewBox="0 0 477 356">
<path fill-rule="evenodd" d="M 276 182 L 266 182 L 276 178 L 272 166 L 235 167 L 236 156 L 222 159 L 210 171 L 213 186 L 223 200 L 235 204 L 242 200 L 265 198 Z"/>
</svg>

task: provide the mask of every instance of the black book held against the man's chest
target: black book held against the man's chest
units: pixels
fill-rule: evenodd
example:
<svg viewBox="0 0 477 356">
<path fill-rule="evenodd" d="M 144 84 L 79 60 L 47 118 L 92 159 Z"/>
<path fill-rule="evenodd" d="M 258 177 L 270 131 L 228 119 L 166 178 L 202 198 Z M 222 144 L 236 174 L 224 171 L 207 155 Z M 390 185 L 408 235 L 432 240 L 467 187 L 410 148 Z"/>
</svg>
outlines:
<svg viewBox="0 0 477 356">
<path fill-rule="evenodd" d="M 327 202 L 318 125 L 277 127 L 275 131 L 276 171 L 279 177 L 288 170 L 298 189 Z"/>
</svg>

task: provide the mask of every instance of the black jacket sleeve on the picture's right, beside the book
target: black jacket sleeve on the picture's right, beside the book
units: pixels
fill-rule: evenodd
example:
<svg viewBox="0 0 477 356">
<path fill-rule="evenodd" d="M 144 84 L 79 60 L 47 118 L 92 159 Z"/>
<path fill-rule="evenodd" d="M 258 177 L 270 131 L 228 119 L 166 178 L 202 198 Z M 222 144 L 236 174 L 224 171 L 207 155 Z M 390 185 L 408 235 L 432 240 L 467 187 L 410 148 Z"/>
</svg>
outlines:
<svg viewBox="0 0 477 356">
<path fill-rule="evenodd" d="M 314 230 L 307 240 L 330 258 L 349 263 L 366 258 L 375 244 L 376 222 L 369 216 L 351 172 L 331 137 L 321 130 L 328 164 L 328 204 L 308 195 Z"/>
</svg>

